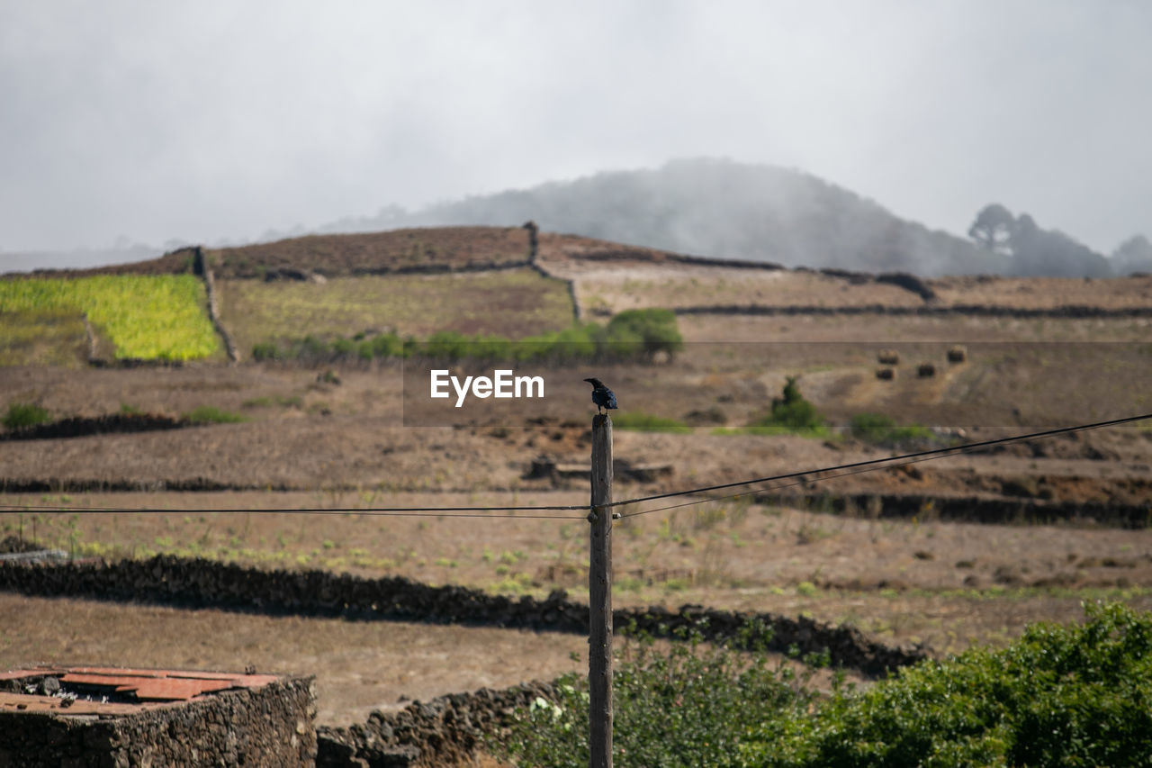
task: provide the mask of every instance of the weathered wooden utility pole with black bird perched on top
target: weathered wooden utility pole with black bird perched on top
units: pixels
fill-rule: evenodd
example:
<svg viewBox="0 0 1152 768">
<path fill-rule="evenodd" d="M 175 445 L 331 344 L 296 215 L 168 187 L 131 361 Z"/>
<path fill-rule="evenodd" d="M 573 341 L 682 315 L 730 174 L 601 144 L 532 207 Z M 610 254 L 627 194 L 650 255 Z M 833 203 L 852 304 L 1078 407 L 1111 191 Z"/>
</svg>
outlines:
<svg viewBox="0 0 1152 768">
<path fill-rule="evenodd" d="M 612 768 L 612 419 L 592 416 L 592 511 L 588 638 L 591 768 Z"/>
</svg>

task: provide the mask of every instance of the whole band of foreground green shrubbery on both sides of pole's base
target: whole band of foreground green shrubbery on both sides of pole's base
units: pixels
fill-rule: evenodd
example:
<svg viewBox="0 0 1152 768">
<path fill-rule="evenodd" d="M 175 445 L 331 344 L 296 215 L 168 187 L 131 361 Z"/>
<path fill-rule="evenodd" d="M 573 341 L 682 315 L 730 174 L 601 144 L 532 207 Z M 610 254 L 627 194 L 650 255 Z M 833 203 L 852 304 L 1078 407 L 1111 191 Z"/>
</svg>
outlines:
<svg viewBox="0 0 1152 768">
<path fill-rule="evenodd" d="M 1000 650 L 818 697 L 763 655 L 681 646 L 616 673 L 619 766 L 1152 765 L 1152 613 L 1085 608 Z M 586 688 L 561 680 L 503 740 L 520 765 L 588 763 Z"/>
</svg>

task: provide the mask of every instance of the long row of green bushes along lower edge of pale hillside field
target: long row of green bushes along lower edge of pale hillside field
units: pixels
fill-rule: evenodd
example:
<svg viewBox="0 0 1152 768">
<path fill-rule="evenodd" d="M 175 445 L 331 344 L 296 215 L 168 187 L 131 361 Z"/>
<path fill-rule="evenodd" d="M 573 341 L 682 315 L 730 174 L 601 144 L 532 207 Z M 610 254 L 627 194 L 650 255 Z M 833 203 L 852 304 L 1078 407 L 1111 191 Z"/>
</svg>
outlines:
<svg viewBox="0 0 1152 768">
<path fill-rule="evenodd" d="M 563 331 L 548 331 L 523 339 L 502 336 L 468 336 L 438 331 L 426 340 L 401 338 L 394 331 L 325 340 L 306 336 L 291 341 L 263 341 L 252 348 L 258 361 L 373 360 L 388 357 L 431 357 L 434 360 L 497 360 L 571 362 L 602 359 L 644 357 L 657 353 L 675 354 L 683 346 L 676 316 L 667 309 L 630 309 L 615 315 L 607 325 L 577 323 Z"/>
</svg>

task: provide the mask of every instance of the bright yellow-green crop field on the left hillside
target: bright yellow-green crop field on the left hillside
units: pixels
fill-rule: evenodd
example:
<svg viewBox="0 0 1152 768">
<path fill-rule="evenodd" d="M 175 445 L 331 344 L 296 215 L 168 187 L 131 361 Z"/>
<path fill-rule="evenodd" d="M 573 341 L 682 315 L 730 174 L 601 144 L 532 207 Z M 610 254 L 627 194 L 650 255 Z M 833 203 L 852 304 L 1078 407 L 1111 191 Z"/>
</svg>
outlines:
<svg viewBox="0 0 1152 768">
<path fill-rule="evenodd" d="M 195 360 L 220 348 L 205 310 L 204 286 L 190 274 L 0 280 L 2 315 L 31 315 L 41 318 L 33 325 L 44 326 L 44 318 L 77 318 L 78 313 L 115 345 L 118 359 Z M 75 322 L 63 325 L 70 329 L 69 338 L 77 336 Z"/>
</svg>

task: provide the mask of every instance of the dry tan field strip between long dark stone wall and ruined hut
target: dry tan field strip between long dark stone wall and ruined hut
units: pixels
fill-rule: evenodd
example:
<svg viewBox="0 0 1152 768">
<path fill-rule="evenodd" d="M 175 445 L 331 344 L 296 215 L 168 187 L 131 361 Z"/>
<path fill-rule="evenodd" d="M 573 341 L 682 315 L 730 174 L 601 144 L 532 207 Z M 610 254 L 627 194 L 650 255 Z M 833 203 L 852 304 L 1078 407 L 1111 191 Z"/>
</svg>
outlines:
<svg viewBox="0 0 1152 768">
<path fill-rule="evenodd" d="M 316 675 L 321 725 L 364 722 L 372 710 L 399 708 L 408 700 L 551 680 L 588 664 L 588 640 L 555 632 L 253 616 L 5 593 L 0 616 L 3 669 L 68 658 Z"/>
</svg>

